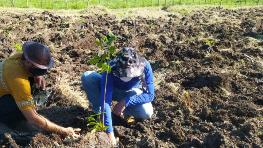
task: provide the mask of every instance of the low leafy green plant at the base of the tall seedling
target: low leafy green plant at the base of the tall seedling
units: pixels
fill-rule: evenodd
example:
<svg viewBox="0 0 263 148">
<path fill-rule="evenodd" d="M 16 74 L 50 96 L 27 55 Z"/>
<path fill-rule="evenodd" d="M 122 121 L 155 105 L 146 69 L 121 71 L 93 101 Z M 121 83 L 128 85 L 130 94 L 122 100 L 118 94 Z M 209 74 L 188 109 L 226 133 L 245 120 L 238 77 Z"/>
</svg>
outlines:
<svg viewBox="0 0 263 148">
<path fill-rule="evenodd" d="M 106 112 L 104 112 L 106 113 Z M 95 122 L 90 122 L 87 124 L 87 126 L 90 126 L 90 125 L 94 125 L 93 126 L 93 129 L 91 130 L 91 133 L 94 133 L 94 132 L 99 132 L 99 131 L 106 131 L 107 128 L 109 128 L 109 126 L 102 126 L 102 123 L 100 121 L 100 114 L 102 113 L 98 113 L 96 115 L 91 115 L 89 118 L 88 118 L 88 122 L 89 121 L 95 121 Z M 93 116 L 99 116 L 99 122 L 97 120 L 95 120 L 95 118 Z"/>
</svg>

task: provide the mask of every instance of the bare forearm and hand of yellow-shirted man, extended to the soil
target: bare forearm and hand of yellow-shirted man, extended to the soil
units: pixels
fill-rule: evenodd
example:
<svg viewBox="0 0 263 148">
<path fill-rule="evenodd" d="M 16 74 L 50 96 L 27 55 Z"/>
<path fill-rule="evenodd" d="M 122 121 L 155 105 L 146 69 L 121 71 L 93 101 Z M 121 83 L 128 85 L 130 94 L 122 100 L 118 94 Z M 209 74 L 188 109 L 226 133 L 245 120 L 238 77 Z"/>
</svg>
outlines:
<svg viewBox="0 0 263 148">
<path fill-rule="evenodd" d="M 25 118 L 27 119 L 29 124 L 32 124 L 35 127 L 38 127 L 42 130 L 50 131 L 52 133 L 62 134 L 67 136 L 68 134 L 72 134 L 75 137 L 78 137 L 78 134 L 75 134 L 74 131 L 80 131 L 81 129 L 74 129 L 72 127 L 64 128 L 56 125 L 55 123 L 50 122 L 45 117 L 39 115 L 35 108 L 21 111 Z"/>
</svg>

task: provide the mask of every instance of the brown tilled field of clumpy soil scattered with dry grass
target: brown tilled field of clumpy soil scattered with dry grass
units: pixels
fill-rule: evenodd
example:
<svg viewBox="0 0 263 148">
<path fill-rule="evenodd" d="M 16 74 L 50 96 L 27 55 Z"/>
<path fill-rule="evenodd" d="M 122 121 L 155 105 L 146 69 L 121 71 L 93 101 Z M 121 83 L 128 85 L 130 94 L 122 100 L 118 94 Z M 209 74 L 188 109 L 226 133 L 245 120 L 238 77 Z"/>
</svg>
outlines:
<svg viewBox="0 0 263 148">
<path fill-rule="evenodd" d="M 121 36 L 118 50 L 131 46 L 149 60 L 156 85 L 151 119 L 130 126 L 113 115 L 118 147 L 262 147 L 262 7 L 155 9 L 152 16 L 127 9 L 125 17 L 0 10 L 0 28 L 11 34 L 0 44 L 0 61 L 17 52 L 14 44 L 47 45 L 55 60 L 44 76 L 52 94 L 38 113 L 82 129 L 78 139 L 2 133 L 1 147 L 109 147 L 106 134 L 87 127 L 93 112 L 80 81 L 83 72 L 99 71 L 88 61 L 99 49 L 94 40 L 108 33 Z"/>
</svg>

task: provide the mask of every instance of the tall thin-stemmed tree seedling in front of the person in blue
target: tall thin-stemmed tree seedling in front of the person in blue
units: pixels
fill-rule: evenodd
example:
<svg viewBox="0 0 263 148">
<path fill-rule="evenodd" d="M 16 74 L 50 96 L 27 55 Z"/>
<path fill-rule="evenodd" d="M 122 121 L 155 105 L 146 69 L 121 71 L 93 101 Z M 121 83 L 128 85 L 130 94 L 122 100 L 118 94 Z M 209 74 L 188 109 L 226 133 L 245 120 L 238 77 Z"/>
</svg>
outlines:
<svg viewBox="0 0 263 148">
<path fill-rule="evenodd" d="M 114 54 L 115 51 L 115 47 L 111 46 L 111 44 L 113 43 L 113 41 L 115 40 L 115 38 L 120 37 L 118 35 L 112 35 L 112 34 L 108 34 L 107 36 L 110 36 L 110 40 L 108 41 L 107 37 L 104 36 L 103 37 L 103 41 L 106 43 L 106 46 L 103 46 L 103 41 L 102 39 L 100 41 L 94 41 L 97 45 L 99 45 L 102 50 L 105 50 L 105 54 L 102 55 L 102 57 L 99 57 L 97 54 L 93 54 L 92 56 L 95 56 L 94 59 L 91 59 L 89 61 L 89 64 L 94 64 L 97 63 L 97 67 L 98 68 L 102 68 L 101 69 L 101 73 L 103 72 L 107 72 L 106 73 L 106 81 L 105 81 L 105 90 L 104 90 L 104 102 L 103 102 L 103 114 L 102 114 L 102 128 L 101 130 L 104 130 L 104 113 L 105 112 L 105 98 L 106 98 L 106 86 L 107 86 L 107 79 L 108 79 L 108 73 L 111 72 L 111 67 L 110 67 L 110 62 L 112 57 L 116 56 L 116 54 L 121 54 L 123 52 L 118 52 Z M 107 61 L 107 64 L 104 64 Z"/>
</svg>

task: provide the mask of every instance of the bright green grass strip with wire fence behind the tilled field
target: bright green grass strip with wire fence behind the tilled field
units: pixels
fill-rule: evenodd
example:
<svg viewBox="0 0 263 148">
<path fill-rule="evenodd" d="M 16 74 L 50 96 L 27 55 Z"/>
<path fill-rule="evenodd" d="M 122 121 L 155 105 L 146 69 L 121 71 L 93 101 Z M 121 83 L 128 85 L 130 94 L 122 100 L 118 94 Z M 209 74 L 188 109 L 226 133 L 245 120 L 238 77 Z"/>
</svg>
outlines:
<svg viewBox="0 0 263 148">
<path fill-rule="evenodd" d="M 134 8 L 169 5 L 258 6 L 263 0 L 0 0 L 0 7 L 83 9 L 93 5 Z"/>
</svg>

